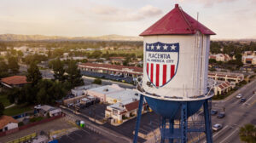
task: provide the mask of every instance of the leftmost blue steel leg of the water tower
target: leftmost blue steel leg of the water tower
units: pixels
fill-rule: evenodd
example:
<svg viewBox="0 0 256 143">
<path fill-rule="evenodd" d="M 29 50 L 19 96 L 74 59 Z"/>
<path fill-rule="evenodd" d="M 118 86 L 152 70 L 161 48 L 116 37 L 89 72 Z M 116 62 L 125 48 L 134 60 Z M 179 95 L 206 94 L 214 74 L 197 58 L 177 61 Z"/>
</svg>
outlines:
<svg viewBox="0 0 256 143">
<path fill-rule="evenodd" d="M 135 133 L 134 133 L 134 137 L 133 137 L 133 143 L 137 143 L 137 134 L 138 134 L 138 130 L 140 128 L 140 122 L 141 122 L 141 117 L 142 117 L 143 100 L 144 100 L 144 95 L 141 94 L 138 111 L 137 111 L 137 121 L 136 121 Z"/>
</svg>

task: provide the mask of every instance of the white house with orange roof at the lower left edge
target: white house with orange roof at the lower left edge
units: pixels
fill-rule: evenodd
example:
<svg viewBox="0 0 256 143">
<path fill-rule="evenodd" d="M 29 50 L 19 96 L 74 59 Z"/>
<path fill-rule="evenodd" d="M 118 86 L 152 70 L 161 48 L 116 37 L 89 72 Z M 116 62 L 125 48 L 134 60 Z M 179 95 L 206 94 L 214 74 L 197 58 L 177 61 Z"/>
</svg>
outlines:
<svg viewBox="0 0 256 143">
<path fill-rule="evenodd" d="M 18 121 L 13 117 L 3 115 L 0 117 L 0 133 L 8 131 L 10 129 L 17 129 Z"/>
</svg>

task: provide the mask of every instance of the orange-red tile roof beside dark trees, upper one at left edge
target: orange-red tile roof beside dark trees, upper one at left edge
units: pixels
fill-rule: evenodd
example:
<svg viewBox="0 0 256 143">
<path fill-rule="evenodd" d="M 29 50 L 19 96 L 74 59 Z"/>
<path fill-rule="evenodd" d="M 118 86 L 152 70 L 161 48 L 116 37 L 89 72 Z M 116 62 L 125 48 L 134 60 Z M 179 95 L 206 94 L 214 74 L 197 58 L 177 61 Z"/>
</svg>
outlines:
<svg viewBox="0 0 256 143">
<path fill-rule="evenodd" d="M 7 83 L 9 85 L 19 85 L 26 84 L 26 76 L 12 76 L 12 77 L 4 77 L 1 79 L 1 82 Z"/>
</svg>

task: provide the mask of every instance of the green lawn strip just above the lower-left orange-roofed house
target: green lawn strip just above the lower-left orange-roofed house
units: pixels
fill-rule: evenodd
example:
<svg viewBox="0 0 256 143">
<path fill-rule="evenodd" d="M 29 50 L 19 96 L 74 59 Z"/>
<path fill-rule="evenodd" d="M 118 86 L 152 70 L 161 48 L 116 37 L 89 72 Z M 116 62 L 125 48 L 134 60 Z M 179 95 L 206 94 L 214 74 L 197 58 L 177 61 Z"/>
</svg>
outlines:
<svg viewBox="0 0 256 143">
<path fill-rule="evenodd" d="M 3 114 L 8 116 L 15 116 L 23 112 L 32 111 L 32 106 L 27 106 L 26 104 L 13 106 L 5 109 Z"/>
</svg>

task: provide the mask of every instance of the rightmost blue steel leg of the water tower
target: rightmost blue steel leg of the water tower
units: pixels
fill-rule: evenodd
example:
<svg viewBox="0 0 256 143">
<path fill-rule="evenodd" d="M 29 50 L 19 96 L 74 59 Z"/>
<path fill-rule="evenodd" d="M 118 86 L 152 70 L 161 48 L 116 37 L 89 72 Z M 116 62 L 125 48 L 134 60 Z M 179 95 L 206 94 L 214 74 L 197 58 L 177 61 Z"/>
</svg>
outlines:
<svg viewBox="0 0 256 143">
<path fill-rule="evenodd" d="M 210 100 L 211 101 L 211 100 Z M 205 126 L 206 126 L 206 135 L 207 135 L 207 143 L 212 143 L 212 121 L 210 117 L 210 108 L 208 105 L 208 100 L 204 103 L 204 114 L 205 114 Z"/>
</svg>

